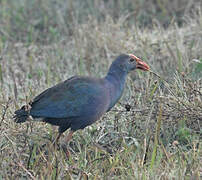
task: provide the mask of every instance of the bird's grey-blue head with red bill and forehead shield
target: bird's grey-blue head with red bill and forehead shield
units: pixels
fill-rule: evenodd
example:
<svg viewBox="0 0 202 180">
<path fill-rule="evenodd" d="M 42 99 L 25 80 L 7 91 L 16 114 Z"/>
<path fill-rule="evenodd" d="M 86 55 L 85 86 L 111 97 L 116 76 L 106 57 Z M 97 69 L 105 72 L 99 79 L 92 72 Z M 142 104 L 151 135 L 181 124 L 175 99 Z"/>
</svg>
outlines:
<svg viewBox="0 0 202 180">
<path fill-rule="evenodd" d="M 130 72 L 135 69 L 141 69 L 143 71 L 149 71 L 149 66 L 140 58 L 133 54 L 122 54 L 118 56 L 111 65 L 113 70 L 117 69 L 123 72 Z"/>
</svg>

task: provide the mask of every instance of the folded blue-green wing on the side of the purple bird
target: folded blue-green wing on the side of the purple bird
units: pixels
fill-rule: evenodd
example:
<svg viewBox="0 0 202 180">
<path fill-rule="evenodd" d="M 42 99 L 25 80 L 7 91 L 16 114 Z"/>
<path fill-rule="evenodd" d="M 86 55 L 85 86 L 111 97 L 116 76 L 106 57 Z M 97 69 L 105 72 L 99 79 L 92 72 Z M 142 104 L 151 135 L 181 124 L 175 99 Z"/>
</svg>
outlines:
<svg viewBox="0 0 202 180">
<path fill-rule="evenodd" d="M 84 114 L 84 109 L 94 103 L 92 97 L 100 91 L 94 83 L 80 77 L 70 78 L 37 96 L 31 104 L 33 117 L 68 118 Z"/>
</svg>

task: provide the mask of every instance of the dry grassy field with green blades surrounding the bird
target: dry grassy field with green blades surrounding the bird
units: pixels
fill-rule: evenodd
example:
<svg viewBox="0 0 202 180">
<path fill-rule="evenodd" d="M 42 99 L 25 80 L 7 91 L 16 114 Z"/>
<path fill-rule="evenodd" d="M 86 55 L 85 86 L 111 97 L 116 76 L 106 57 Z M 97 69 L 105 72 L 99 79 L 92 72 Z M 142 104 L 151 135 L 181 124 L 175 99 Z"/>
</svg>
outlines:
<svg viewBox="0 0 202 180">
<path fill-rule="evenodd" d="M 75 74 L 101 77 L 121 53 L 145 60 L 115 108 L 75 133 L 15 124 L 13 112 Z M 0 179 L 200 179 L 201 0 L 0 0 Z"/>
</svg>

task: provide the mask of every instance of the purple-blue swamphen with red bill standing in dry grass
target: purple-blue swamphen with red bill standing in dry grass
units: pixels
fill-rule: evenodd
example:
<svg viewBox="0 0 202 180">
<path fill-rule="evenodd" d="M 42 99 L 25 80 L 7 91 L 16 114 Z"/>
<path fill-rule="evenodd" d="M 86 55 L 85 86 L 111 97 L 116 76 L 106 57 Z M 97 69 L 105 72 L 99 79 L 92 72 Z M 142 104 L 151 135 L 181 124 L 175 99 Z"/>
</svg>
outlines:
<svg viewBox="0 0 202 180">
<path fill-rule="evenodd" d="M 58 126 L 55 142 L 70 129 L 65 140 L 69 142 L 75 131 L 93 124 L 112 109 L 123 94 L 128 73 L 135 69 L 149 71 L 150 67 L 133 54 L 121 54 L 105 77 L 70 77 L 16 110 L 14 121 L 23 123 L 32 119 Z"/>
</svg>

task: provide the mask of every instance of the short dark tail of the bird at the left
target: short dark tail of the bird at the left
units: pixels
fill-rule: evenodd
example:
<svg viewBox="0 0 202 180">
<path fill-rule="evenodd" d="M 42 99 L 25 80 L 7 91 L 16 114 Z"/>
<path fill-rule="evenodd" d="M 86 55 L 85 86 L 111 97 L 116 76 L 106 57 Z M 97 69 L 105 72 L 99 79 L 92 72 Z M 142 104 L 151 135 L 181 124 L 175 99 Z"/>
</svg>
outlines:
<svg viewBox="0 0 202 180">
<path fill-rule="evenodd" d="M 13 118 L 16 123 L 23 123 L 27 120 L 28 117 L 29 111 L 27 111 L 26 106 L 22 106 L 21 109 L 15 111 L 15 116 Z"/>
</svg>

